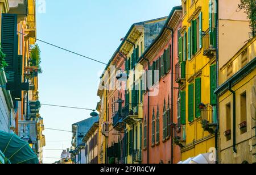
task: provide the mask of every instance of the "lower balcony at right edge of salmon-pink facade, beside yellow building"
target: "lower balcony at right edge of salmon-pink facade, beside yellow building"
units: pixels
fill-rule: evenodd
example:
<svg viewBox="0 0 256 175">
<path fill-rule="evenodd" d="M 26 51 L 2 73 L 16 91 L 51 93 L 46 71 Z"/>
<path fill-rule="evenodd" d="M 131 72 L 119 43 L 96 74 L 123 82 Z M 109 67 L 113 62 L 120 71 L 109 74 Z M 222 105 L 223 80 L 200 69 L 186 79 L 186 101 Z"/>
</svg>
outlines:
<svg viewBox="0 0 256 175">
<path fill-rule="evenodd" d="M 179 120 L 179 119 L 178 119 Z M 180 148 L 185 147 L 186 141 L 186 126 L 180 125 L 178 121 L 177 126 L 174 127 L 174 143 Z"/>
</svg>

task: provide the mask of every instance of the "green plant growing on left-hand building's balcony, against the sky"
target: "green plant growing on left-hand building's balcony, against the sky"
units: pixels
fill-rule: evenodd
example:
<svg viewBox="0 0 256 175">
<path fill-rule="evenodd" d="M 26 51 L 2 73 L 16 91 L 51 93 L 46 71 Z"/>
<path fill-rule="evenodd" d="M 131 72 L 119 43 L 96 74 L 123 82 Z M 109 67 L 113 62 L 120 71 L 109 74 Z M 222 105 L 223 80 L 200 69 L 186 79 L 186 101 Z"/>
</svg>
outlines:
<svg viewBox="0 0 256 175">
<path fill-rule="evenodd" d="M 38 73 L 43 72 L 41 68 L 41 51 L 38 44 L 35 44 L 34 47 L 31 48 L 30 66 L 36 66 L 36 68 L 38 69 Z"/>
</svg>

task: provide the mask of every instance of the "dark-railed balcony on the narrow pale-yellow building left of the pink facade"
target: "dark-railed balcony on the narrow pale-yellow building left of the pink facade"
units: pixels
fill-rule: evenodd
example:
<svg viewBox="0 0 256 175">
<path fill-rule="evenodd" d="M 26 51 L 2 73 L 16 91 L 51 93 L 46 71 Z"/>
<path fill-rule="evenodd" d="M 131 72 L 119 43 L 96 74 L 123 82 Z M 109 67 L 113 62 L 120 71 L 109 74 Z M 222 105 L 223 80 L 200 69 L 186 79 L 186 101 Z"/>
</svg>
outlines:
<svg viewBox="0 0 256 175">
<path fill-rule="evenodd" d="M 138 122 L 139 115 L 138 115 L 138 107 L 134 107 L 134 111 L 131 109 L 130 105 L 126 105 L 122 108 L 122 117 L 123 122 L 132 125 L 135 122 Z"/>
</svg>

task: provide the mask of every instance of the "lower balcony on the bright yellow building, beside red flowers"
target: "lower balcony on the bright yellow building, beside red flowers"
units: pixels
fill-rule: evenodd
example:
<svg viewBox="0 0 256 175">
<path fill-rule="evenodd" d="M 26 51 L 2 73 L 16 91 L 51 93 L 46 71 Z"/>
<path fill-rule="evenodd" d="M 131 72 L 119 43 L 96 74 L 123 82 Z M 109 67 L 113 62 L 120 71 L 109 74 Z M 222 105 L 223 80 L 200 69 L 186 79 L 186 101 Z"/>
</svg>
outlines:
<svg viewBox="0 0 256 175">
<path fill-rule="evenodd" d="M 217 126 L 217 110 L 216 106 L 205 105 L 201 110 L 202 127 L 210 134 L 215 132 Z"/>
</svg>

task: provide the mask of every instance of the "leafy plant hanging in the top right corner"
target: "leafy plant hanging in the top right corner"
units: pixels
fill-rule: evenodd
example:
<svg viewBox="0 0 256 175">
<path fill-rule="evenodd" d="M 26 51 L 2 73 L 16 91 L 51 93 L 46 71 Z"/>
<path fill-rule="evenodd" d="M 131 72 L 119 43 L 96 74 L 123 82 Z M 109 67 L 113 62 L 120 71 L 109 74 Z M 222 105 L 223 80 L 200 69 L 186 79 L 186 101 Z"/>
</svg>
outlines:
<svg viewBox="0 0 256 175">
<path fill-rule="evenodd" d="M 247 18 L 250 19 L 250 28 L 253 36 L 256 34 L 256 1 L 255 0 L 241 0 L 238 8 L 245 10 Z"/>
</svg>

